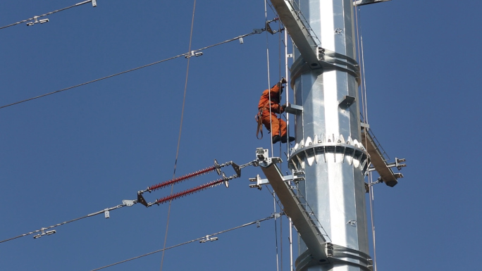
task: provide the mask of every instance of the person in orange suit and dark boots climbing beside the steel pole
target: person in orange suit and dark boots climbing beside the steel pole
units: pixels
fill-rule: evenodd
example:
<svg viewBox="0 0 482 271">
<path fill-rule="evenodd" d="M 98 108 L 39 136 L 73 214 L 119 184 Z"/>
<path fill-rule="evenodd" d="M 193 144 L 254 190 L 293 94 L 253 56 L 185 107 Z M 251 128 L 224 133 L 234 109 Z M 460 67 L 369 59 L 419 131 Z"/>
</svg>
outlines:
<svg viewBox="0 0 482 271">
<path fill-rule="evenodd" d="M 286 84 L 286 79 L 280 80 L 271 89 L 266 89 L 258 103 L 258 114 L 256 115 L 256 120 L 258 122 L 257 134 L 261 132 L 261 138 L 263 138 L 263 127 L 264 124 L 268 132 L 271 131 L 271 141 L 275 144 L 278 141 L 281 143 L 286 143 L 288 141 L 288 134 L 286 133 L 286 122 L 278 118 L 278 114 L 285 112 L 286 106 L 280 106 L 281 94 L 283 94 L 283 84 Z M 270 125 L 271 124 L 271 125 Z M 261 139 L 258 137 L 258 139 Z M 295 137 L 290 137 L 290 142 L 294 141 Z"/>
</svg>

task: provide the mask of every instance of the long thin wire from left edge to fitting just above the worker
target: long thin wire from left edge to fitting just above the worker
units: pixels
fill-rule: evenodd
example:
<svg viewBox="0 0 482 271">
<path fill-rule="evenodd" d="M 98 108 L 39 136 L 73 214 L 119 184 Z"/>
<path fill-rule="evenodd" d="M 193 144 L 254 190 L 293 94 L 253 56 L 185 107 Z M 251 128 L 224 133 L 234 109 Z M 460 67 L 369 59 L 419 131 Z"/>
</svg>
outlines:
<svg viewBox="0 0 482 271">
<path fill-rule="evenodd" d="M 91 0 L 89 0 L 89 1 L 91 1 Z M 243 34 L 243 35 L 237 36 L 237 37 L 235 37 L 235 38 L 233 38 L 233 39 L 228 39 L 228 40 L 225 40 L 224 42 L 219 42 L 219 43 L 217 43 L 217 44 L 212 44 L 212 45 L 209 45 L 209 46 L 206 46 L 206 47 L 203 47 L 203 48 L 201 48 L 201 49 L 194 50 L 194 51 L 201 51 L 201 50 L 204 50 L 204 49 L 209 49 L 209 48 L 214 47 L 214 46 L 218 46 L 218 45 L 225 44 L 225 43 L 228 43 L 228 42 L 233 42 L 233 41 L 238 40 L 238 39 L 240 39 L 240 38 L 242 38 L 242 37 L 247 37 L 247 36 L 251 36 L 252 34 L 260 34 L 260 33 L 261 33 L 261 32 L 254 31 L 254 32 L 251 32 L 251 33 L 248 33 L 248 34 Z M 39 98 L 42 98 L 42 97 L 44 97 L 44 96 L 49 96 L 49 95 L 51 95 L 51 94 L 56 94 L 56 93 L 58 93 L 58 92 L 64 92 L 64 91 L 66 91 L 66 90 L 68 90 L 68 89 L 75 89 L 76 87 L 82 87 L 82 86 L 84 86 L 84 85 L 86 85 L 86 84 L 90 84 L 90 83 L 93 83 L 93 82 L 98 82 L 98 81 L 101 81 L 101 80 L 105 80 L 105 79 L 108 79 L 108 78 L 111 78 L 111 77 L 115 77 L 115 76 L 117 76 L 117 75 L 123 75 L 123 74 L 125 74 L 125 73 L 130 73 L 130 72 L 133 72 L 133 71 L 135 71 L 135 70 L 140 70 L 140 69 L 142 69 L 142 68 L 147 68 L 147 67 L 149 67 L 149 66 L 156 65 L 156 64 L 159 64 L 159 63 L 163 63 L 163 62 L 166 62 L 166 61 L 171 61 L 171 60 L 173 60 L 174 58 L 179 58 L 179 57 L 181 57 L 181 56 L 187 57 L 187 56 L 190 56 L 190 55 L 191 55 L 191 52 L 183 53 L 183 54 L 180 54 L 180 55 L 177 55 L 177 56 L 173 56 L 173 57 L 171 57 L 171 58 L 163 59 L 163 60 L 161 60 L 161 61 L 156 61 L 156 62 L 154 62 L 154 63 L 150 63 L 150 64 L 147 64 L 147 65 L 143 65 L 143 66 L 140 66 L 140 67 L 137 67 L 137 68 L 133 68 L 133 69 L 130 69 L 130 70 L 125 70 L 125 71 L 123 71 L 123 72 L 121 72 L 121 73 L 116 73 L 116 74 L 114 74 L 114 75 L 109 75 L 109 76 L 106 76 L 106 77 L 101 77 L 101 78 L 99 78 L 99 79 L 92 80 L 92 81 L 89 81 L 89 82 L 85 82 L 85 83 L 82 83 L 82 84 L 76 84 L 75 86 L 66 87 L 65 89 L 59 89 L 59 90 L 56 90 L 55 92 L 49 92 L 49 93 L 47 93 L 47 94 L 42 94 L 42 95 L 40 95 L 40 96 L 35 96 L 35 97 L 29 98 L 29 99 L 25 99 L 25 100 L 22 100 L 22 101 L 16 101 L 15 103 L 9 103 L 9 104 L 7 104 L 7 105 L 5 105 L 5 106 L 0 106 L 0 109 L 1 109 L 1 108 L 6 108 L 6 107 L 8 107 L 8 106 L 14 106 L 14 105 L 16 105 L 16 104 L 18 104 L 18 103 L 25 103 L 25 101 L 32 101 L 32 100 L 35 100 L 35 99 L 39 99 Z"/>
</svg>

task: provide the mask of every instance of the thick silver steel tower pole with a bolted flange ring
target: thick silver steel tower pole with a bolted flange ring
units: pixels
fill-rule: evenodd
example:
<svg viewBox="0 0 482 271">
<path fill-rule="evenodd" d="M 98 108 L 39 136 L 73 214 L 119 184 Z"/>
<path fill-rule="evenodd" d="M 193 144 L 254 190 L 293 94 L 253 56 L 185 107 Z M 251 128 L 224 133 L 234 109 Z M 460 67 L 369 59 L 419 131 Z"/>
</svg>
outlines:
<svg viewBox="0 0 482 271">
<path fill-rule="evenodd" d="M 371 270 L 353 1 L 271 2 L 297 47 L 290 69 L 297 144 L 288 163 L 295 174 L 304 172 L 299 193 L 330 239 L 323 261 L 302 237 L 296 270 Z"/>
</svg>

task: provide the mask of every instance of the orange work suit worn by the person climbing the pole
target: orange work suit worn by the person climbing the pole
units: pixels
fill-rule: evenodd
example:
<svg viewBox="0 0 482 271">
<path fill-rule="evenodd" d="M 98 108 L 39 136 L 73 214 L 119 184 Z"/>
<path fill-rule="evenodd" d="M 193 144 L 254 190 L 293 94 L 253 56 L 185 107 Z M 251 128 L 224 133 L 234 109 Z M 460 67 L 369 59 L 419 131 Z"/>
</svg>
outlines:
<svg viewBox="0 0 482 271">
<path fill-rule="evenodd" d="M 258 110 L 261 111 L 261 109 L 261 121 L 263 122 L 264 127 L 266 127 L 268 131 L 271 131 L 271 137 L 277 135 L 279 135 L 280 137 L 285 137 L 286 122 L 284 120 L 278 119 L 278 115 L 276 115 L 276 113 L 281 114 L 285 112 L 285 108 L 283 106 L 280 106 L 280 87 L 278 84 L 275 84 L 274 87 L 271 88 L 271 90 L 266 89 L 263 94 L 261 94 L 261 98 L 259 99 L 258 103 Z"/>
</svg>

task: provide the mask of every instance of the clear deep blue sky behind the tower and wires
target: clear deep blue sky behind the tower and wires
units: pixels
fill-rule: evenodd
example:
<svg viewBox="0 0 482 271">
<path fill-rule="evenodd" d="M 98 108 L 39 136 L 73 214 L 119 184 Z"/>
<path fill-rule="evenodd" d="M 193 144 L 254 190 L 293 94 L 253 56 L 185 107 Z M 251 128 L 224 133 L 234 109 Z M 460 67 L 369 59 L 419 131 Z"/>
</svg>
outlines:
<svg viewBox="0 0 482 271">
<path fill-rule="evenodd" d="M 0 27 L 77 1 L 1 1 Z M 407 159 L 396 187 L 375 187 L 380 271 L 479 268 L 481 8 L 476 0 L 361 7 L 369 124 L 392 160 Z M 0 106 L 187 52 L 192 9 L 193 1 L 98 0 L 97 8 L 49 15 L 49 23 L 0 30 Z M 261 0 L 197 1 L 192 49 L 262 28 L 264 20 Z M 268 148 L 268 137 L 255 137 L 254 115 L 268 87 L 267 44 L 271 84 L 280 77 L 279 43 L 276 34 L 256 34 L 191 59 L 175 176 L 215 158 L 248 163 L 257 147 Z M 0 240 L 117 206 L 171 179 L 186 70 L 181 57 L 1 108 Z M 229 189 L 173 201 L 166 246 L 270 216 L 268 189 L 248 187 L 257 174 L 259 168 L 245 168 Z M 214 179 L 216 173 L 203 175 L 174 191 Z M 169 193 L 144 195 L 154 201 Z M 56 227 L 40 239 L 6 241 L 0 269 L 92 270 L 156 251 L 167 215 L 166 204 L 136 204 L 112 210 L 109 219 L 101 214 Z M 276 270 L 276 237 L 289 270 L 286 221 L 173 248 L 163 270 Z M 106 270 L 160 268 L 155 253 Z"/>
</svg>

